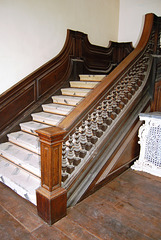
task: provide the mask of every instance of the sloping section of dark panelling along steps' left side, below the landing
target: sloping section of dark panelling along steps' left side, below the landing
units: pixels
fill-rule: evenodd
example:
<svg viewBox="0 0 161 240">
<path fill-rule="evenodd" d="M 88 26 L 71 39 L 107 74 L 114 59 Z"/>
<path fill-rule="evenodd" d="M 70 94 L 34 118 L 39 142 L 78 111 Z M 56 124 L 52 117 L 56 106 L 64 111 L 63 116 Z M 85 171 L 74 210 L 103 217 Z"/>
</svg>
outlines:
<svg viewBox="0 0 161 240">
<path fill-rule="evenodd" d="M 67 51 L 67 46 L 69 47 L 69 50 L 72 49 L 70 48 L 69 34 L 67 34 L 64 51 L 58 55 L 56 60 L 53 59 L 49 61 L 0 96 L 0 116 L 2 119 L 2 121 L 0 121 L 1 132 L 15 119 L 24 115 L 25 111 L 33 107 L 34 104 L 35 107 L 37 107 L 38 100 L 42 99 L 43 101 L 43 99 L 48 98 L 52 89 L 53 91 L 56 91 L 56 89 L 60 87 L 60 84 L 64 81 L 65 77 L 61 79 L 62 76 L 60 75 L 58 76 L 59 81 L 57 81 L 54 71 L 58 66 L 63 66 L 61 72 L 63 72 L 63 75 L 64 73 L 67 74 L 67 76 L 69 75 L 67 70 L 70 70 L 68 67 L 70 59 L 68 58 L 68 61 L 64 63 L 64 58 L 62 56 L 64 52 Z M 62 62 L 59 62 L 61 59 L 63 59 L 63 65 Z M 58 69 L 60 70 L 60 67 Z M 33 85 L 34 87 L 31 87 L 29 92 L 28 86 L 30 85 Z M 13 100 L 15 103 L 14 107 Z"/>
</svg>

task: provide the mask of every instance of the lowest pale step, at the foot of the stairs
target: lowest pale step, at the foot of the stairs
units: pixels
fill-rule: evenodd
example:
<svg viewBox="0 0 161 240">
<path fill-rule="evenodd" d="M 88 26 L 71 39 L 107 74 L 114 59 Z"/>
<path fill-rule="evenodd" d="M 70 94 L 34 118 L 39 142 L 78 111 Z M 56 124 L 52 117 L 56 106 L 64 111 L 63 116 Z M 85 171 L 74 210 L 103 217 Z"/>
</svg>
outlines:
<svg viewBox="0 0 161 240">
<path fill-rule="evenodd" d="M 35 190 L 41 184 L 40 178 L 0 157 L 0 181 L 36 205 Z"/>
</svg>

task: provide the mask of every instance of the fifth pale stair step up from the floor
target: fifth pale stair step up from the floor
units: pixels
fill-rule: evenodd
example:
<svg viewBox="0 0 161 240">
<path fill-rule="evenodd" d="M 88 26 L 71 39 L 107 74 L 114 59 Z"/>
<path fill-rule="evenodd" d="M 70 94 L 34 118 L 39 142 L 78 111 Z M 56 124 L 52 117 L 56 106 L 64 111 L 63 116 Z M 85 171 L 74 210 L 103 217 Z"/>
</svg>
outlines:
<svg viewBox="0 0 161 240">
<path fill-rule="evenodd" d="M 38 112 L 31 114 L 33 120 L 57 126 L 63 119 L 64 116 L 47 113 L 47 112 Z"/>
</svg>

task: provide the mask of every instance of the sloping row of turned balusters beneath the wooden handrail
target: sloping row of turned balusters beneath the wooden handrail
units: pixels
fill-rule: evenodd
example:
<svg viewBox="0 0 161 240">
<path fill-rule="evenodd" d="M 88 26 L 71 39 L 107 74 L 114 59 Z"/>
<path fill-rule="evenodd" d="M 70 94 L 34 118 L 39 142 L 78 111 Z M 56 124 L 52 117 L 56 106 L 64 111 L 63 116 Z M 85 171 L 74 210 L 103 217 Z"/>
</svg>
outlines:
<svg viewBox="0 0 161 240">
<path fill-rule="evenodd" d="M 149 53 L 149 51 L 151 50 L 148 48 L 148 50 L 145 50 L 145 52 L 142 54 L 139 60 L 139 64 L 137 63 L 138 67 L 142 66 L 144 67 L 143 69 L 147 68 L 147 66 L 150 63 L 150 58 L 147 58 L 146 55 L 147 53 Z M 135 68 L 135 66 L 136 65 L 134 64 L 133 68 Z M 86 117 L 83 119 L 82 124 L 80 126 L 78 125 L 79 133 L 81 136 L 80 136 L 79 150 L 77 149 L 77 151 L 79 152 L 79 157 L 81 158 L 81 162 L 82 162 L 81 167 L 83 167 L 83 163 L 86 164 L 87 161 L 89 160 L 89 155 L 91 155 L 90 153 L 94 151 L 95 144 L 97 144 L 97 140 L 101 138 L 106 131 L 110 131 L 110 127 L 112 127 L 116 123 L 117 119 L 120 118 L 120 115 L 123 114 L 123 111 L 125 111 L 126 106 L 130 105 L 138 95 L 138 92 L 141 92 L 142 89 L 144 88 L 146 84 L 146 81 L 144 81 L 146 78 L 146 75 L 145 75 L 146 71 L 143 71 L 141 73 L 135 73 L 135 76 L 132 78 L 134 87 L 131 84 L 130 73 L 132 73 L 131 69 L 129 70 L 128 73 L 126 73 L 123 77 L 121 77 L 120 80 L 117 81 L 117 84 L 115 84 L 115 86 L 109 92 L 107 92 L 107 94 L 104 96 L 102 101 L 98 103 L 97 109 L 94 108 L 93 112 L 90 111 L 90 113 L 88 113 Z M 138 82 L 137 79 L 138 78 L 140 79 L 140 75 L 141 76 L 144 75 L 144 78 L 141 78 L 140 82 Z M 123 88 L 120 88 L 121 85 L 123 86 Z M 120 104 L 121 102 L 120 96 L 123 101 L 125 99 L 124 104 Z M 129 97 L 126 98 L 126 96 L 129 96 Z M 89 124 L 91 124 L 89 123 L 90 115 L 93 116 L 92 117 L 93 132 L 90 131 L 90 139 L 89 139 L 88 138 Z M 105 116 L 104 121 L 103 121 L 103 116 Z M 108 116 L 108 119 L 107 119 L 107 116 Z M 76 126 L 76 129 L 78 129 L 78 126 Z M 73 133 L 73 136 L 74 135 L 75 135 L 75 132 Z M 88 141 L 86 138 L 88 138 Z M 72 148 L 72 146 L 74 146 L 74 137 L 71 138 L 70 140 L 73 141 L 73 144 L 70 143 L 70 148 Z M 90 148 L 88 147 L 89 143 L 91 144 Z M 66 144 L 65 142 L 64 144 L 66 145 L 66 148 L 68 148 L 68 144 Z M 68 152 L 68 150 L 66 150 L 66 152 Z M 75 159 L 75 158 L 76 158 L 76 154 L 74 154 L 74 150 L 73 150 L 72 159 Z M 70 158 L 68 156 L 67 156 L 67 165 L 70 165 Z M 74 172 L 77 171 L 77 168 L 81 170 L 80 169 L 81 167 L 77 165 L 75 167 L 75 170 L 69 173 L 68 178 L 65 181 L 62 181 L 63 186 L 65 188 L 68 187 L 70 182 L 69 179 L 72 179 Z"/>
</svg>

